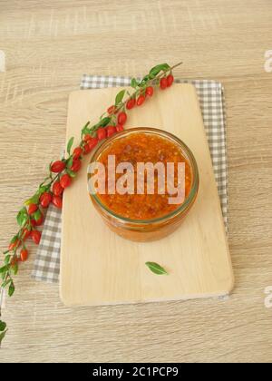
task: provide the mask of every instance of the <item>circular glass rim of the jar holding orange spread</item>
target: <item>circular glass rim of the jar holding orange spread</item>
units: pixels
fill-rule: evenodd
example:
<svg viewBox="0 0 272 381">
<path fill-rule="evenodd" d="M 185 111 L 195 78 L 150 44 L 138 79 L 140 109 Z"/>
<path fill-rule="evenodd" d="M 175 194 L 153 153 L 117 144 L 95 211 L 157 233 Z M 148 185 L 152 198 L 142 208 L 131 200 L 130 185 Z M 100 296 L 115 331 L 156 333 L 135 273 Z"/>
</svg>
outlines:
<svg viewBox="0 0 272 381">
<path fill-rule="evenodd" d="M 90 193 L 89 194 L 90 194 L 92 200 L 94 200 L 102 208 L 102 210 L 104 210 L 106 213 L 108 213 L 110 216 L 112 216 L 116 220 L 120 220 L 123 222 L 129 222 L 131 224 L 136 224 L 136 225 L 137 224 L 138 225 L 147 225 L 147 224 L 154 224 L 154 223 L 158 223 L 158 222 L 162 223 L 164 221 L 170 220 L 170 219 L 176 217 L 177 215 L 179 215 L 180 213 L 182 213 L 183 211 L 188 209 L 189 205 L 195 199 L 195 197 L 198 193 L 198 190 L 199 190 L 199 170 L 198 170 L 197 161 L 196 161 L 192 151 L 190 151 L 189 147 L 184 142 L 182 142 L 180 140 L 180 138 L 178 138 L 177 136 L 173 135 L 170 132 L 166 132 L 166 131 L 163 131 L 163 130 L 160 130 L 157 128 L 153 128 L 153 127 L 130 128 L 130 129 L 124 130 L 122 132 L 118 132 L 118 134 L 115 134 L 111 138 L 102 142 L 102 144 L 99 145 L 95 151 L 93 151 L 92 158 L 91 158 L 89 165 L 92 162 L 96 161 L 97 158 L 102 154 L 102 151 L 104 149 L 106 149 L 112 142 L 114 142 L 115 140 L 121 139 L 121 138 L 123 138 L 123 137 L 125 137 L 131 133 L 155 134 L 155 135 L 158 135 L 158 136 L 161 136 L 164 138 L 168 138 L 171 141 L 174 141 L 180 147 L 182 153 L 185 153 L 187 159 L 189 159 L 189 165 L 190 165 L 190 168 L 192 171 L 192 176 L 193 176 L 193 181 L 192 181 L 192 184 L 191 184 L 191 187 L 189 190 L 189 195 L 187 196 L 187 198 L 184 200 L 184 202 L 182 204 L 180 204 L 180 206 L 177 209 L 172 210 L 170 213 L 165 214 L 161 217 L 158 217 L 155 219 L 149 219 L 149 220 L 132 220 L 132 219 L 129 219 L 126 217 L 122 217 L 120 214 L 114 213 L 112 210 L 107 208 L 106 205 L 104 205 L 102 203 L 102 201 L 100 200 L 100 198 L 96 194 L 90 194 Z M 89 165 L 88 165 L 88 167 L 89 167 Z M 88 181 L 88 178 L 89 178 L 89 174 L 87 171 L 87 181 Z"/>
</svg>

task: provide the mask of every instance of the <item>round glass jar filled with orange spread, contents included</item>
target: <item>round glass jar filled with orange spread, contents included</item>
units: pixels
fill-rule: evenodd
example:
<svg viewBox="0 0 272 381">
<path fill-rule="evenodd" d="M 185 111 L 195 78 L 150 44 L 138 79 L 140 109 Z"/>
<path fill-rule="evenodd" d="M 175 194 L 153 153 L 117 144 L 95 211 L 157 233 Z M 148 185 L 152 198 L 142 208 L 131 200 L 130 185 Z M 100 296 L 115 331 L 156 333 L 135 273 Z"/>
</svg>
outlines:
<svg viewBox="0 0 272 381">
<path fill-rule="evenodd" d="M 88 167 L 92 203 L 125 239 L 151 241 L 176 230 L 196 200 L 199 171 L 179 138 L 133 128 L 104 141 Z"/>
</svg>

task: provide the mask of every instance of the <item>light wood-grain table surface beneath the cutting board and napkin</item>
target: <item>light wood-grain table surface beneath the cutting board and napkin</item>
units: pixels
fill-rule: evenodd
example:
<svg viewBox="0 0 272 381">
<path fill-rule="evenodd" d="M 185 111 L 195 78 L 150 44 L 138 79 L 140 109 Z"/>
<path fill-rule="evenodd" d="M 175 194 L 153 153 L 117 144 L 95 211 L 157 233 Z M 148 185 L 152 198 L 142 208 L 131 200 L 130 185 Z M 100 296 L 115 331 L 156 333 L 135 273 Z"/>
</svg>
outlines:
<svg viewBox="0 0 272 381">
<path fill-rule="evenodd" d="M 141 75 L 182 60 L 178 76 L 217 79 L 226 90 L 236 278 L 228 300 L 64 308 L 58 285 L 30 278 L 32 246 L 4 310 L 1 362 L 271 362 L 271 20 L 270 0 L 0 0 L 1 249 L 16 210 L 60 154 L 81 75 Z"/>
</svg>

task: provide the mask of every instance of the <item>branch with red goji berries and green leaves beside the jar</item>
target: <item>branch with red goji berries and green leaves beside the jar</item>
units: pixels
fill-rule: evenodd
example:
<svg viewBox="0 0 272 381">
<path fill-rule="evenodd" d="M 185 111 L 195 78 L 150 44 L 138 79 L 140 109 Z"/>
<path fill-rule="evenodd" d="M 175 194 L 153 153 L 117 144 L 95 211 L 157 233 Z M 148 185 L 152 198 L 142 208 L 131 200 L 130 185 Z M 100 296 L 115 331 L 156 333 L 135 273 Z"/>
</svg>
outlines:
<svg viewBox="0 0 272 381">
<path fill-rule="evenodd" d="M 24 207 L 19 210 L 16 220 L 19 230 L 11 239 L 8 249 L 4 252 L 4 266 L 0 269 L 2 278 L 0 293 L 0 318 L 1 307 L 4 298 L 4 290 L 8 287 L 8 295 L 11 297 L 15 292 L 15 283 L 13 276 L 18 272 L 18 263 L 25 261 L 28 257 L 28 250 L 25 247 L 25 241 L 28 238 L 39 244 L 41 239 L 41 231 L 38 226 L 44 222 L 44 210 L 48 208 L 50 203 L 61 209 L 63 205 L 63 190 L 67 188 L 76 172 L 80 171 L 82 166 L 83 155 L 88 154 L 98 144 L 98 142 L 106 139 L 116 132 L 123 130 L 123 125 L 127 121 L 127 113 L 125 110 L 131 110 L 135 105 L 141 106 L 148 97 L 154 93 L 154 88 L 159 87 L 165 90 L 174 81 L 172 70 L 182 63 L 171 66 L 169 64 L 159 64 L 151 68 L 151 71 L 145 75 L 141 81 L 135 78 L 131 80 L 133 93 L 121 90 L 115 97 L 115 103 L 108 108 L 100 117 L 99 122 L 90 127 L 91 122 L 88 121 L 82 129 L 81 142 L 73 149 L 73 138 L 69 140 L 66 148 L 66 158 L 62 160 L 52 161 L 49 165 L 49 175 L 39 185 L 34 195 L 24 202 Z M 127 97 L 125 97 L 127 94 Z M 104 116 L 107 114 L 107 116 Z M 20 249 L 19 255 L 17 250 Z M 5 337 L 7 328 L 5 322 L 0 319 L 0 346 L 1 341 Z"/>
</svg>

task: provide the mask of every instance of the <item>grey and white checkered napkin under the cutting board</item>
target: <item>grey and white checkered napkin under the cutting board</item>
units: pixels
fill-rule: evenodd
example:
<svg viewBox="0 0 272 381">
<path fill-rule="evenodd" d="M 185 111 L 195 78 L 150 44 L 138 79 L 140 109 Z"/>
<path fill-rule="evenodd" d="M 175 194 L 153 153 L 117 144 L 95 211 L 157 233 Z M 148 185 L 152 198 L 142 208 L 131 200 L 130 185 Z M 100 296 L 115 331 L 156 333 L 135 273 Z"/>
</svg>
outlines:
<svg viewBox="0 0 272 381">
<path fill-rule="evenodd" d="M 222 214 L 228 230 L 228 189 L 227 189 L 227 152 L 224 93 L 221 83 L 214 81 L 184 81 L 192 83 L 199 95 L 205 130 L 209 141 L 209 150 L 213 169 L 218 183 Z M 131 78 L 83 75 L 81 89 L 99 89 L 102 87 L 128 86 Z M 33 278 L 48 282 L 57 282 L 60 272 L 61 249 L 61 211 L 53 206 L 47 210 L 41 243 L 34 261 Z"/>
</svg>

